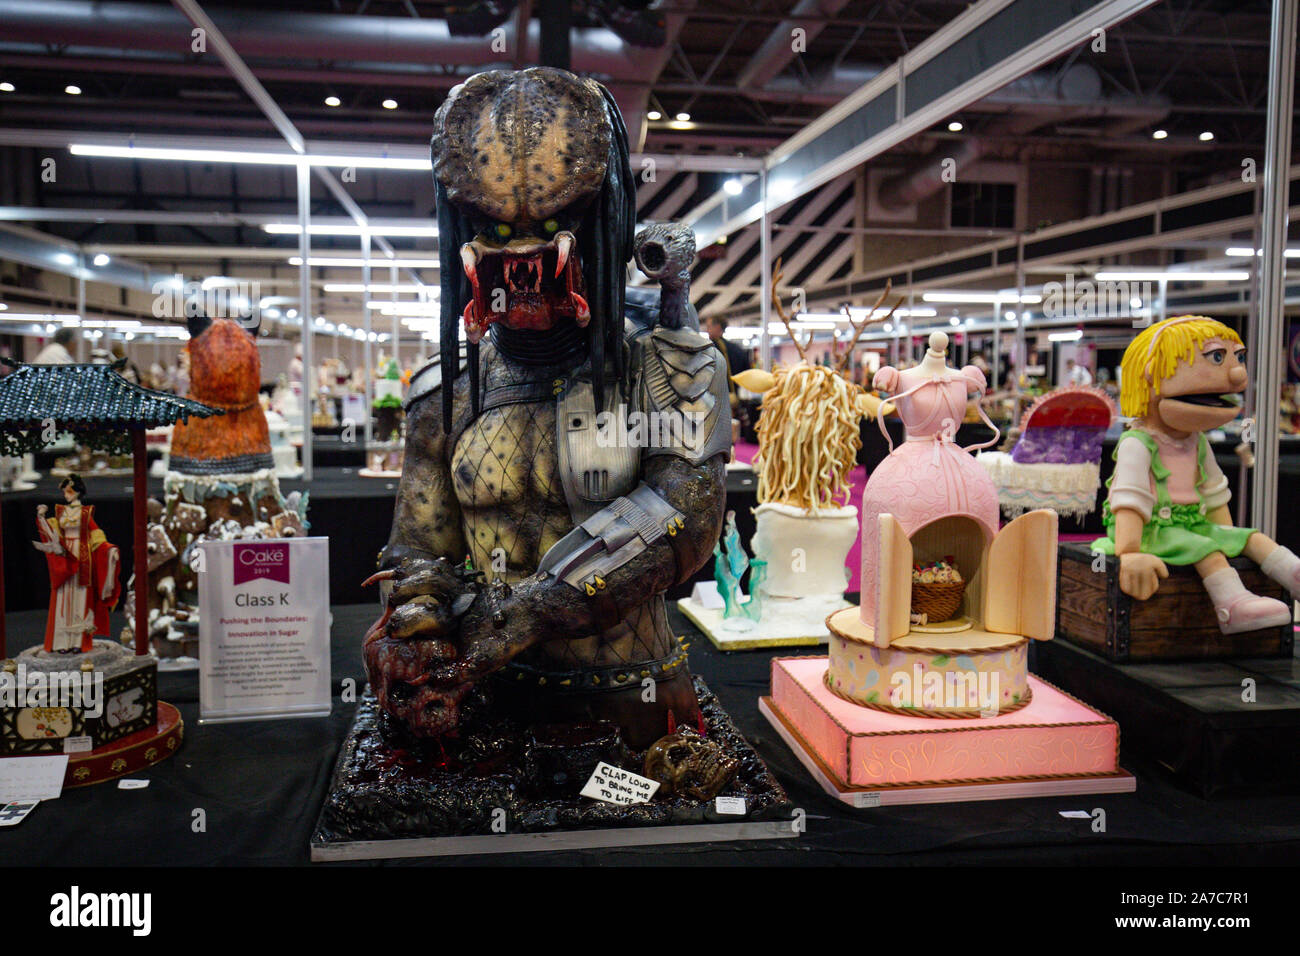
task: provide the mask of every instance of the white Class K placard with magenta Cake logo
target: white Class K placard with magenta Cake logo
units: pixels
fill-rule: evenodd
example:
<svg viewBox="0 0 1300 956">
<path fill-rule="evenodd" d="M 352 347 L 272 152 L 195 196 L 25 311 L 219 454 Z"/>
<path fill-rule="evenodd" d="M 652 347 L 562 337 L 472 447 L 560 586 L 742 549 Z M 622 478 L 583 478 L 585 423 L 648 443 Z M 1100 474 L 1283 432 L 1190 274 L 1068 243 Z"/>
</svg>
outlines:
<svg viewBox="0 0 1300 956">
<path fill-rule="evenodd" d="M 328 538 L 202 548 L 199 722 L 328 715 Z"/>
</svg>

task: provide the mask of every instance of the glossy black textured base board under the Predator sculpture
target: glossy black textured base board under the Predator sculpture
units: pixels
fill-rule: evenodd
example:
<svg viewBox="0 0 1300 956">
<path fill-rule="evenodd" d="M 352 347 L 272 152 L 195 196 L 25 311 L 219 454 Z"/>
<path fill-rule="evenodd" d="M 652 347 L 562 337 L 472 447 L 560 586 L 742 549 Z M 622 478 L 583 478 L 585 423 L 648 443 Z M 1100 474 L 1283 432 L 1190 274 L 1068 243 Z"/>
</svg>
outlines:
<svg viewBox="0 0 1300 956">
<path fill-rule="evenodd" d="M 696 693 L 708 737 L 740 762 L 720 796 L 744 797 L 744 813 L 716 801 L 656 797 L 619 806 L 586 797 L 528 795 L 521 754 L 488 773 L 411 763 L 384 741 L 367 693 L 339 752 L 312 835 L 313 861 L 572 849 L 655 843 L 776 839 L 797 835 L 793 806 L 703 680 Z M 640 773 L 638 758 L 625 769 Z"/>
</svg>

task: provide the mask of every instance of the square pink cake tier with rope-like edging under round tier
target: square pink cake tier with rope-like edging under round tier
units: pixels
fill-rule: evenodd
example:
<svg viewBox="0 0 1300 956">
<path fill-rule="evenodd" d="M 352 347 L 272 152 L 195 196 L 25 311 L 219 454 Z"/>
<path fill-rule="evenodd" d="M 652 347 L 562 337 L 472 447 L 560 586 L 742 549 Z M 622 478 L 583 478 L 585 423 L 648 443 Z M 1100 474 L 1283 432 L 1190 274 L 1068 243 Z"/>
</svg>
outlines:
<svg viewBox="0 0 1300 956">
<path fill-rule="evenodd" d="M 844 787 L 1044 780 L 1119 771 L 1119 727 L 1035 676 L 1034 700 L 997 717 L 906 717 L 827 689 L 824 657 L 772 661 L 772 704 Z"/>
</svg>

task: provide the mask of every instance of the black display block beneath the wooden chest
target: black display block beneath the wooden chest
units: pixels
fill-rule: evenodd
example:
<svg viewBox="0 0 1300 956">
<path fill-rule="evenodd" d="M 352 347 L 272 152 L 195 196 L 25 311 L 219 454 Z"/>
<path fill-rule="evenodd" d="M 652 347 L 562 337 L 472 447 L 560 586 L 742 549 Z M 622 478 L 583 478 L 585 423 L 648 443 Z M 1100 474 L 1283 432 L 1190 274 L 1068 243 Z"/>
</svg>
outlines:
<svg viewBox="0 0 1300 956">
<path fill-rule="evenodd" d="M 1300 793 L 1300 659 L 1115 663 L 1040 641 L 1034 670 L 1110 714 L 1124 752 L 1201 797 Z M 1252 700 L 1253 697 L 1253 700 Z"/>
</svg>

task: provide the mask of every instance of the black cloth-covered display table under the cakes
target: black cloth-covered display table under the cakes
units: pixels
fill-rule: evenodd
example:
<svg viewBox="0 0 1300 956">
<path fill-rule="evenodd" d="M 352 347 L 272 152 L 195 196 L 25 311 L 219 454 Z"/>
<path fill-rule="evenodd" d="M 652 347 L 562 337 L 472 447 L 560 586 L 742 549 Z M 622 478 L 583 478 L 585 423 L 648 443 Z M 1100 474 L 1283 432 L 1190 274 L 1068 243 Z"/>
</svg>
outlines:
<svg viewBox="0 0 1300 956">
<path fill-rule="evenodd" d="M 351 678 L 361 687 L 360 640 L 374 606 L 334 609 L 335 700 Z M 532 862 L 569 865 L 835 865 L 967 864 L 1239 864 L 1295 861 L 1300 800 L 1205 801 L 1179 790 L 1158 766 L 1130 756 L 1136 793 L 1037 797 L 979 804 L 852 809 L 822 792 L 758 711 L 771 659 L 783 652 L 723 654 L 676 610 L 673 628 L 692 643 L 692 670 L 719 695 L 737 727 L 806 812 L 792 840 L 529 853 Z M 9 615 L 14 650 L 35 643 L 42 613 Z M 788 653 L 788 652 L 785 652 Z M 100 784 L 66 791 L 4 831 L 5 860 L 65 866 L 283 865 L 308 862 L 308 842 L 354 705 L 328 718 L 207 724 L 198 722 L 198 676 L 160 674 L 159 691 L 185 719 L 176 757 L 138 777 L 146 790 Z M 1127 731 L 1126 731 L 1127 732 Z M 1106 810 L 1106 831 L 1062 810 Z M 207 832 L 191 829 L 202 809 Z M 1245 856 L 1248 853 L 1248 857 Z M 517 856 L 452 857 L 442 865 L 519 865 Z M 433 861 L 430 861 L 433 862 Z"/>
</svg>

